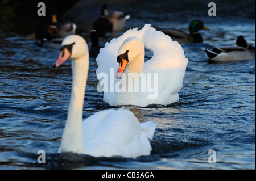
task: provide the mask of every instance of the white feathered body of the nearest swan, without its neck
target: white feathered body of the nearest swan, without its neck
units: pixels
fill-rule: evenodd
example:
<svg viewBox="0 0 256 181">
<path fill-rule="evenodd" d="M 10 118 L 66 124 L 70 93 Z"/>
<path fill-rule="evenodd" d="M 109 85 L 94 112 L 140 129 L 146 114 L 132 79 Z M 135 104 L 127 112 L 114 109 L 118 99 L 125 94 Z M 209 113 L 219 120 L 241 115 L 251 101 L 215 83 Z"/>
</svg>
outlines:
<svg viewBox="0 0 256 181">
<path fill-rule="evenodd" d="M 141 125 L 150 132 L 141 131 Z M 95 157 L 135 157 L 150 154 L 149 139 L 154 135 L 156 123 L 148 121 L 141 125 L 137 117 L 124 108 L 94 113 L 82 123 L 83 131 L 86 133 L 85 151 Z"/>
</svg>

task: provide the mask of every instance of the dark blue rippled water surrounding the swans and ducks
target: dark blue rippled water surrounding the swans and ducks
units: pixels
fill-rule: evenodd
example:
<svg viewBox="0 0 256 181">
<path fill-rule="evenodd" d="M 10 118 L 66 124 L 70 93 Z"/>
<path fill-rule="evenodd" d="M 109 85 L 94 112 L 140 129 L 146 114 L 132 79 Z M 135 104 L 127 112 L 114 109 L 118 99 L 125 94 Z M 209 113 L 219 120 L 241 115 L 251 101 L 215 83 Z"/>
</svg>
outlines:
<svg viewBox="0 0 256 181">
<path fill-rule="evenodd" d="M 126 28 L 150 23 L 188 31 L 189 20 L 135 16 Z M 255 60 L 213 63 L 203 51 L 209 45 L 234 45 L 238 35 L 255 46 L 255 20 L 207 17 L 204 22 L 210 28 L 201 31 L 204 43 L 183 45 L 189 62 L 179 102 L 128 107 L 139 120 L 158 123 L 151 155 L 134 159 L 58 154 L 71 61 L 52 69 L 59 50 L 0 30 L 0 169 L 255 169 Z M 81 35 L 90 46 L 89 32 Z M 106 41 L 100 39 L 100 44 Z M 90 58 L 84 117 L 117 108 L 102 102 L 96 68 Z M 38 150 L 46 152 L 45 164 L 37 163 Z M 216 163 L 208 163 L 209 150 L 216 151 Z"/>
</svg>

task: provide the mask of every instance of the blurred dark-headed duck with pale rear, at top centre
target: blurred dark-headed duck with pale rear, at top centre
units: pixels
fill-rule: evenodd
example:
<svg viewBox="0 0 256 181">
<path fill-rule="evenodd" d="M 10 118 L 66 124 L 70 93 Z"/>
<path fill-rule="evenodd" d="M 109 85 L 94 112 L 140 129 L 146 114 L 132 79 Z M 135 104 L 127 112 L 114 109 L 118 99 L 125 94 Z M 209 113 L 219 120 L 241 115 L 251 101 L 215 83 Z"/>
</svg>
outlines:
<svg viewBox="0 0 256 181">
<path fill-rule="evenodd" d="M 130 18 L 122 11 L 110 11 L 106 4 L 101 7 L 101 16 L 93 22 L 93 29 L 98 32 L 100 37 L 105 37 L 106 32 L 122 31 L 125 22 Z"/>
</svg>

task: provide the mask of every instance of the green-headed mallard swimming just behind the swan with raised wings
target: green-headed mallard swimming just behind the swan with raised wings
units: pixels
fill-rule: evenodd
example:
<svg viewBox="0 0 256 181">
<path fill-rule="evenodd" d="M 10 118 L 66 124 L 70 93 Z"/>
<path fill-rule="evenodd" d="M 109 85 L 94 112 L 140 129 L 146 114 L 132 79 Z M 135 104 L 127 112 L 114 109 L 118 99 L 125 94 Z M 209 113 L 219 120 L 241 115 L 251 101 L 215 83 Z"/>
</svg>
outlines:
<svg viewBox="0 0 256 181">
<path fill-rule="evenodd" d="M 177 41 L 179 44 L 203 43 L 203 37 L 198 32 L 202 29 L 210 30 L 204 26 L 204 23 L 201 20 L 193 20 L 189 24 L 189 34 L 176 29 L 156 28 L 156 30 L 162 31 L 164 34 L 169 35 L 173 41 Z"/>
</svg>

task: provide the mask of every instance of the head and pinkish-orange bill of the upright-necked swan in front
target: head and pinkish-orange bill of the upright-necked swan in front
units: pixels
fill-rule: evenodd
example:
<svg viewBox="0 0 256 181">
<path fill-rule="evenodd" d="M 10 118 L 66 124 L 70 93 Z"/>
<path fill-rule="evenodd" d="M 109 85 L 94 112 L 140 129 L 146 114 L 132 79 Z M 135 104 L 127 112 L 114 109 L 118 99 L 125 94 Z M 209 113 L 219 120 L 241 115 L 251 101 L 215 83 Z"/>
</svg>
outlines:
<svg viewBox="0 0 256 181">
<path fill-rule="evenodd" d="M 53 68 L 59 67 L 69 58 L 80 58 L 86 53 L 88 53 L 88 45 L 84 38 L 79 35 L 69 35 L 61 44 L 60 56 L 53 64 Z"/>
</svg>

